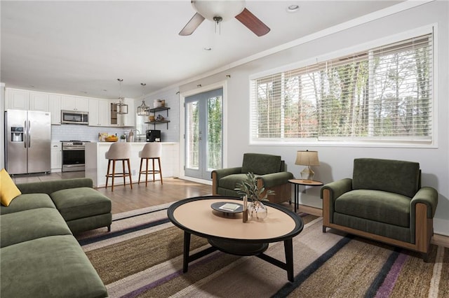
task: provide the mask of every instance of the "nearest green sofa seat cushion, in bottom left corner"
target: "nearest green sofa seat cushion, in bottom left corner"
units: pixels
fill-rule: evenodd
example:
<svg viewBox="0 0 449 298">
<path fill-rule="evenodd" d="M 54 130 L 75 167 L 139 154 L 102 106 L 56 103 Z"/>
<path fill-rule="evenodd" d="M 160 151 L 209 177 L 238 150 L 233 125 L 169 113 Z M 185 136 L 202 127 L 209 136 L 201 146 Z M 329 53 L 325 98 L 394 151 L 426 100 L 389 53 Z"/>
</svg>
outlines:
<svg viewBox="0 0 449 298">
<path fill-rule="evenodd" d="M 0 270 L 2 297 L 107 297 L 105 285 L 71 235 L 1 248 Z"/>
</svg>

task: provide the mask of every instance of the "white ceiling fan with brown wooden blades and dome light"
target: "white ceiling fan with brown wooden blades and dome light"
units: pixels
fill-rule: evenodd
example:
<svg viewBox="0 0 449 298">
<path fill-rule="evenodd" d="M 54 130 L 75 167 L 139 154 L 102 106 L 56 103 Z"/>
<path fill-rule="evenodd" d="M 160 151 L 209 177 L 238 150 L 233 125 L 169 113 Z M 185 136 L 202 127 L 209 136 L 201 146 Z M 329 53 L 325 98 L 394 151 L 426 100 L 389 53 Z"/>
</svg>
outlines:
<svg viewBox="0 0 449 298">
<path fill-rule="evenodd" d="M 192 34 L 204 19 L 220 24 L 222 21 L 235 17 L 257 36 L 263 36 L 269 32 L 269 27 L 259 20 L 245 7 L 245 0 L 192 0 L 192 6 L 196 10 L 192 19 L 187 22 L 180 31 L 181 36 Z"/>
</svg>

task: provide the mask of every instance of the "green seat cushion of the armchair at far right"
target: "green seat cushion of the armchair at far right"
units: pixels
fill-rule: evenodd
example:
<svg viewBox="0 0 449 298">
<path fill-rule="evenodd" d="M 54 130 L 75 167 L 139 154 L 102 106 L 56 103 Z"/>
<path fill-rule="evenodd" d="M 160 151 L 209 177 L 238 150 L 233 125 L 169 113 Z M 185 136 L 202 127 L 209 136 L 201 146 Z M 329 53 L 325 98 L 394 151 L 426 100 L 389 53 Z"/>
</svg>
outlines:
<svg viewBox="0 0 449 298">
<path fill-rule="evenodd" d="M 352 190 L 335 200 L 335 212 L 356 218 L 410 226 L 410 198 L 381 190 Z"/>
</svg>

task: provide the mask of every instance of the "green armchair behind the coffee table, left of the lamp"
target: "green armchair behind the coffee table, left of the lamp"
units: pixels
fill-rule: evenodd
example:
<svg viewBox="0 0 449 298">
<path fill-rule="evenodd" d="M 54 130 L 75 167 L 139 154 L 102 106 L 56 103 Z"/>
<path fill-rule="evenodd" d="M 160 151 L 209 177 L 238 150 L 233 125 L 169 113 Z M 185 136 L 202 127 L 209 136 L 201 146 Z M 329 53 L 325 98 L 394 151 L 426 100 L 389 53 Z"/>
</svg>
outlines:
<svg viewBox="0 0 449 298">
<path fill-rule="evenodd" d="M 257 183 L 265 190 L 274 190 L 275 194 L 268 197 L 269 201 L 281 203 L 291 200 L 288 179 L 293 179 L 293 174 L 285 171 L 285 163 L 279 155 L 259 153 L 245 153 L 242 166 L 212 171 L 212 194 L 240 197 L 234 188 L 246 179 L 249 172 L 257 176 Z"/>
</svg>

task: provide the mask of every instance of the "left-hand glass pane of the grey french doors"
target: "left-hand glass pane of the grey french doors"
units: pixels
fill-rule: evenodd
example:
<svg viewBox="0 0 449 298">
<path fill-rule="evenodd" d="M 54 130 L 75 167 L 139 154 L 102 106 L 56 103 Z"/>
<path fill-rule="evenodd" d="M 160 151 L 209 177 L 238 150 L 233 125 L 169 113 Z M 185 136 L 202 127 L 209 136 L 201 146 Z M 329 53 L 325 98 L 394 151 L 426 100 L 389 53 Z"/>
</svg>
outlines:
<svg viewBox="0 0 449 298">
<path fill-rule="evenodd" d="M 198 101 L 186 104 L 186 167 L 199 169 L 199 109 Z"/>
</svg>

